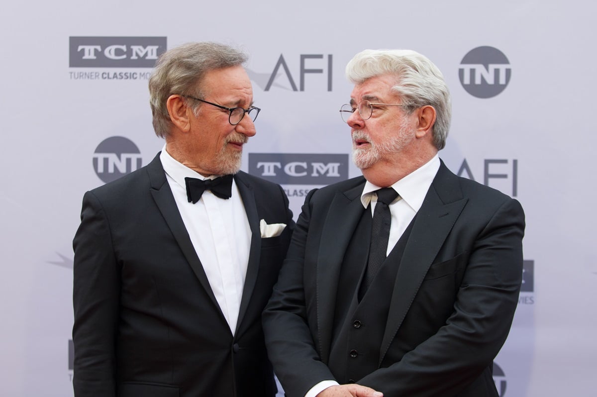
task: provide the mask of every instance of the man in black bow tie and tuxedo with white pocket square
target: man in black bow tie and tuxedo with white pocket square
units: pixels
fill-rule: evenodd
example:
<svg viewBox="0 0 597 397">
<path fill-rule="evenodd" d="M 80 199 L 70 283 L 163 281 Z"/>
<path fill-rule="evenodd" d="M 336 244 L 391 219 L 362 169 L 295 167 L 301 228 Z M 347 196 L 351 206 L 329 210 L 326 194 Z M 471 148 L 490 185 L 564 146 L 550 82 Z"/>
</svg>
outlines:
<svg viewBox="0 0 597 397">
<path fill-rule="evenodd" d="M 164 148 L 85 193 L 76 397 L 275 395 L 261 312 L 294 222 L 279 185 L 239 171 L 260 110 L 245 61 L 211 42 L 162 54 L 149 91 Z"/>
</svg>

